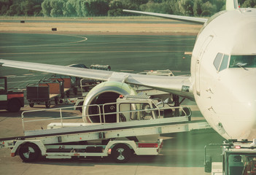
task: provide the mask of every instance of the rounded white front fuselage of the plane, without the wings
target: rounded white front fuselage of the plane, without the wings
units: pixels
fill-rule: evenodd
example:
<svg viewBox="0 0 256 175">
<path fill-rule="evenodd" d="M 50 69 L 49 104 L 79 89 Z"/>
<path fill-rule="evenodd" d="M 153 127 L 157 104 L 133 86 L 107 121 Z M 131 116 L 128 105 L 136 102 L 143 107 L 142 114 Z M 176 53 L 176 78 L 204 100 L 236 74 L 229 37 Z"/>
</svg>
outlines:
<svg viewBox="0 0 256 175">
<path fill-rule="evenodd" d="M 223 64 L 214 61 L 218 53 Z M 198 34 L 191 59 L 195 101 L 212 128 L 225 139 L 252 140 L 256 67 L 231 68 L 230 55 L 256 55 L 256 9 L 225 11 L 210 18 Z"/>
</svg>

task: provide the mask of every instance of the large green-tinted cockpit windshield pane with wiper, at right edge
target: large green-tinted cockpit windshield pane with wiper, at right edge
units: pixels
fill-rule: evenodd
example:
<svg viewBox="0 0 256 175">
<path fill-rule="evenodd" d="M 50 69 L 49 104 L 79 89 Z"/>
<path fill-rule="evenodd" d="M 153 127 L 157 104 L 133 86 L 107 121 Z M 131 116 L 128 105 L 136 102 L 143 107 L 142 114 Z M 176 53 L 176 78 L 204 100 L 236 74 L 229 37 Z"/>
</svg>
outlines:
<svg viewBox="0 0 256 175">
<path fill-rule="evenodd" d="M 256 55 L 231 55 L 229 67 L 255 68 Z"/>
</svg>

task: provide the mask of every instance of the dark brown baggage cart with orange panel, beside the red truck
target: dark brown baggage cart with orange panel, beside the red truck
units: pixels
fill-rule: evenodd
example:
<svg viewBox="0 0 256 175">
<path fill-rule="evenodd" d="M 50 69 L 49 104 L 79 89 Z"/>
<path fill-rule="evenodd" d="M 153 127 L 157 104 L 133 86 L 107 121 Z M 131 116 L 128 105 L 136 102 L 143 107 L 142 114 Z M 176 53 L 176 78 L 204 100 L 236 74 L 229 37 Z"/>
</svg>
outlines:
<svg viewBox="0 0 256 175">
<path fill-rule="evenodd" d="M 55 101 L 55 104 L 58 104 L 63 88 L 63 81 L 58 79 L 44 79 L 36 84 L 26 85 L 26 98 L 29 106 L 33 107 L 35 103 L 40 104 L 43 102 L 46 108 L 50 108 L 51 101 Z"/>
</svg>

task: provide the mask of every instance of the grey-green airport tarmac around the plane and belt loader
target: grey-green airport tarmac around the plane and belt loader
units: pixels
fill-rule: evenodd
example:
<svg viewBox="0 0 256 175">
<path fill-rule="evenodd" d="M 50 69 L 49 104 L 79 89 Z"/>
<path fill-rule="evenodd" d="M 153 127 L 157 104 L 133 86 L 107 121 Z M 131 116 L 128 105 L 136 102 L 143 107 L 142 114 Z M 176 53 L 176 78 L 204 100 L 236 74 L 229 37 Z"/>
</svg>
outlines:
<svg viewBox="0 0 256 175">
<path fill-rule="evenodd" d="M 112 71 L 137 73 L 170 69 L 174 74 L 189 74 L 190 55 L 195 36 L 168 35 L 93 35 L 93 34 L 12 34 L 0 33 L 0 56 L 16 61 L 69 65 L 72 63 L 109 64 Z M 9 87 L 26 88 L 50 76 L 21 69 L 0 68 Z M 193 117 L 202 117 L 193 106 Z M 34 109 L 42 109 L 43 105 Z M 30 107 L 22 109 L 28 110 Z M 22 134 L 21 113 L 0 110 L 0 136 Z M 110 158 L 84 160 L 39 160 L 23 163 L 10 157 L 9 149 L 0 149 L 0 174 L 200 174 L 204 175 L 204 146 L 222 143 L 212 129 L 190 133 L 164 134 L 158 156 L 133 156 L 128 163 L 113 163 Z M 216 153 L 218 154 L 218 153 Z"/>
</svg>

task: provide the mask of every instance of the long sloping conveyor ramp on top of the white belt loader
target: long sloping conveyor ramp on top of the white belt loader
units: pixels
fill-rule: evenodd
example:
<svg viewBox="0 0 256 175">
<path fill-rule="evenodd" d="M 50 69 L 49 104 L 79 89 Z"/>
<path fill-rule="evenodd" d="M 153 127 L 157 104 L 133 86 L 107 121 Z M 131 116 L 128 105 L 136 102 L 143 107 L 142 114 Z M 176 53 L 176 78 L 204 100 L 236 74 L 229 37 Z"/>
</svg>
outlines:
<svg viewBox="0 0 256 175">
<path fill-rule="evenodd" d="M 65 107 L 65 109 L 70 107 Z M 177 107 L 175 107 L 177 108 Z M 61 108 L 63 109 L 63 108 Z M 61 111 L 61 109 L 59 109 Z M 50 109 L 45 109 L 50 110 Z M 147 109 L 158 110 L 158 109 Z M 36 110 L 35 110 L 36 111 Z M 40 111 L 40 110 L 38 110 Z M 136 110 L 143 111 L 143 110 Z M 134 111 L 131 111 L 134 112 Z M 123 112 L 112 112 L 123 113 Z M 108 113 L 109 114 L 109 113 Z M 71 118 L 71 117 L 68 117 Z M 24 119 L 23 119 L 24 120 Z M 53 120 L 53 119 L 51 119 Z M 56 120 L 56 119 L 54 119 Z M 136 120 L 123 123 L 53 123 L 50 129 L 25 131 L 24 136 L 12 138 L 2 138 L 6 147 L 12 147 L 11 143 L 15 140 L 40 139 L 44 144 L 58 144 L 72 141 L 88 141 L 96 139 L 112 139 L 130 136 L 144 136 L 161 133 L 177 133 L 193 131 L 203 128 L 211 128 L 206 120 L 190 121 L 190 117 L 168 117 L 156 118 L 154 120 Z M 34 122 L 29 121 L 29 122 Z M 23 123 L 24 128 L 24 123 Z M 8 146 L 7 146 L 8 145 Z"/>
</svg>

